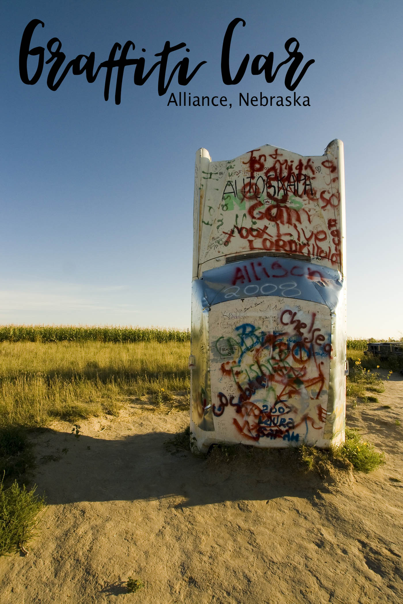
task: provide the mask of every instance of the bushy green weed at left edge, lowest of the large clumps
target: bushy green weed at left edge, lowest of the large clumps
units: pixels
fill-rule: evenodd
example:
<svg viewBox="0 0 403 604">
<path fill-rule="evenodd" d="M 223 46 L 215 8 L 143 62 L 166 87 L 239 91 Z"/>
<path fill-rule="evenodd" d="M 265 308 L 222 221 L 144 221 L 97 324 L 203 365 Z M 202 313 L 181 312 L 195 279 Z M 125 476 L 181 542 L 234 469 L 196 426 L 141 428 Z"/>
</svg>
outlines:
<svg viewBox="0 0 403 604">
<path fill-rule="evenodd" d="M 0 483 L 0 556 L 19 548 L 24 553 L 24 544 L 35 533 L 36 518 L 44 507 L 44 500 L 32 490 L 19 487 L 15 480 L 8 489 Z"/>
</svg>

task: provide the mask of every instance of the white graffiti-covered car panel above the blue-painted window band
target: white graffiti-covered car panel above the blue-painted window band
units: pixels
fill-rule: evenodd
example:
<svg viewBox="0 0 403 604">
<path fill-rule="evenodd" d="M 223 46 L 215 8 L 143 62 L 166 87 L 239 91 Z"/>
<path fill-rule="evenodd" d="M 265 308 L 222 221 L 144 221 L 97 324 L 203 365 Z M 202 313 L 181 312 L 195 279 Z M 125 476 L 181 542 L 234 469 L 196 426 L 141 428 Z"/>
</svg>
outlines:
<svg viewBox="0 0 403 604">
<path fill-rule="evenodd" d="M 217 164 L 211 162 L 201 178 L 201 263 L 219 254 L 269 251 L 340 266 L 335 158 L 302 157 L 267 145 Z"/>
</svg>

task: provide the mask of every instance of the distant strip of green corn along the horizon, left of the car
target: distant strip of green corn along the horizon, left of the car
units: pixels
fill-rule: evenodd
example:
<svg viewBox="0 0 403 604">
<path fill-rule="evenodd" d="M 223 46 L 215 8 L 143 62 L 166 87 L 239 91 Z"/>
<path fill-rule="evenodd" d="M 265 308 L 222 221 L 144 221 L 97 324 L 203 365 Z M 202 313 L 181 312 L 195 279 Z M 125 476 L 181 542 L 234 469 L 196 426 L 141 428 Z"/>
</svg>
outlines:
<svg viewBox="0 0 403 604">
<path fill-rule="evenodd" d="M 3 325 L 0 342 L 190 342 L 190 332 L 164 327 Z"/>
</svg>

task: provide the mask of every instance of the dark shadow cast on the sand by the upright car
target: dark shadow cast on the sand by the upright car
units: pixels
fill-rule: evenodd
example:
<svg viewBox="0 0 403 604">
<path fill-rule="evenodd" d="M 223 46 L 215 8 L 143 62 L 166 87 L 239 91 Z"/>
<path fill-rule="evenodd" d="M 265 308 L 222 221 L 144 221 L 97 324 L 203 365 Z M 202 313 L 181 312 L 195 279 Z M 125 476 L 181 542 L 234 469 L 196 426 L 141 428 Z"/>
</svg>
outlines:
<svg viewBox="0 0 403 604">
<path fill-rule="evenodd" d="M 178 498 L 184 507 L 282 496 L 311 500 L 327 490 L 317 475 L 276 456 L 267 463 L 209 464 L 190 452 L 172 454 L 164 446 L 172 437 L 150 432 L 106 440 L 44 429 L 34 439 L 37 492 L 45 491 L 48 504 Z"/>
</svg>

